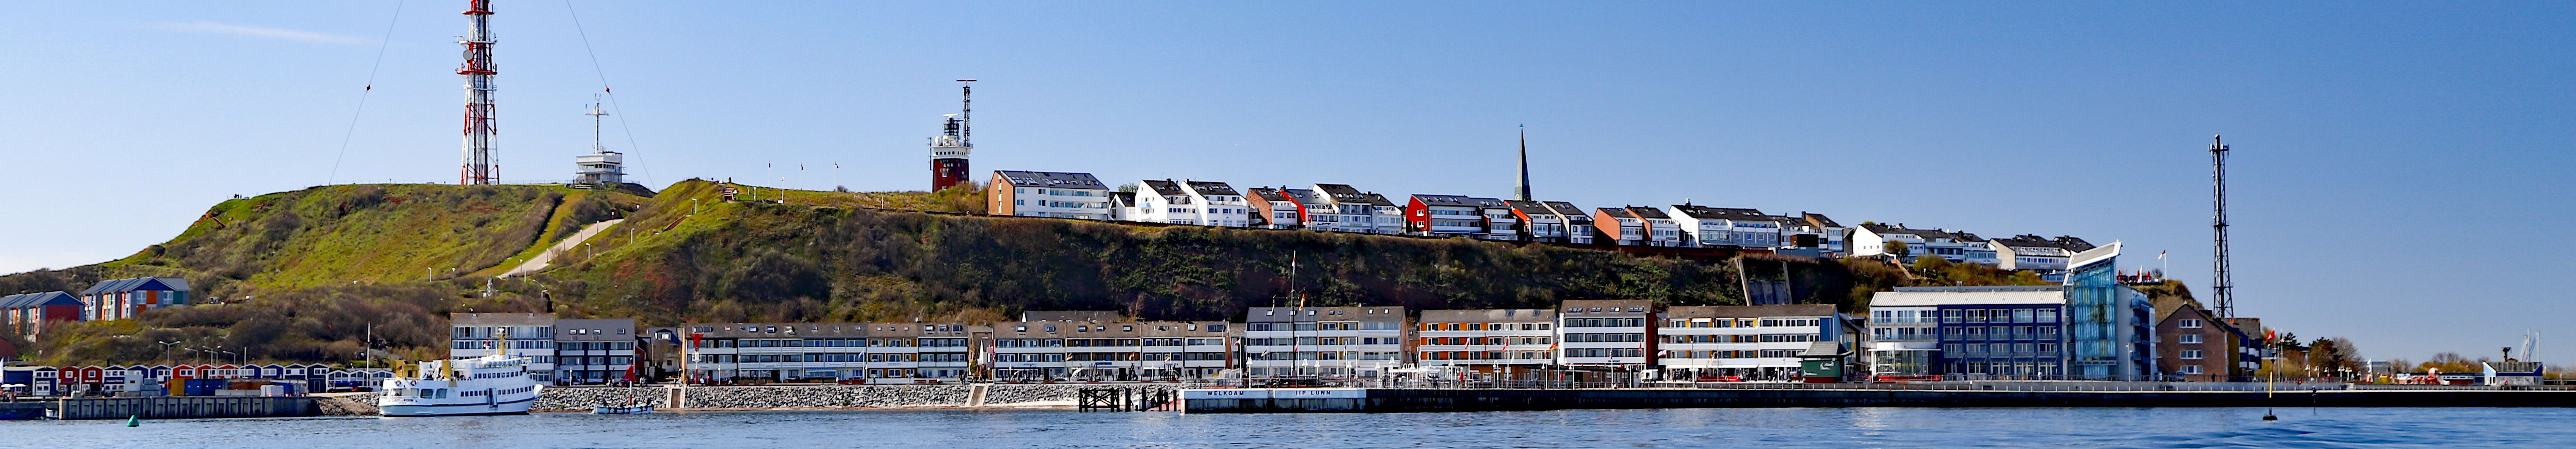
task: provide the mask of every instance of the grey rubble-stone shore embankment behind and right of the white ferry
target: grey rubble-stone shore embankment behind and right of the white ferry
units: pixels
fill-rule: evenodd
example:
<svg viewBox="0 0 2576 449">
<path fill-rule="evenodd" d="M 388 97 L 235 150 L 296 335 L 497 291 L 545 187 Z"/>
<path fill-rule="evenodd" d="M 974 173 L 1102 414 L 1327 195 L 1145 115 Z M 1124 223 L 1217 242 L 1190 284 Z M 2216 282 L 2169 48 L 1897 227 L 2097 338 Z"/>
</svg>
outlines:
<svg viewBox="0 0 2576 449">
<path fill-rule="evenodd" d="M 685 408 L 969 408 L 976 384 L 757 384 L 757 387 L 688 387 Z M 1077 390 L 1177 390 L 1177 384 L 989 384 L 981 405 L 1064 405 Z M 590 410 L 590 405 L 634 403 L 670 408 L 672 387 L 546 387 L 536 397 L 536 410 Z M 374 413 L 379 392 L 345 395 L 343 400 L 366 408 L 325 408 L 327 413 Z"/>
</svg>

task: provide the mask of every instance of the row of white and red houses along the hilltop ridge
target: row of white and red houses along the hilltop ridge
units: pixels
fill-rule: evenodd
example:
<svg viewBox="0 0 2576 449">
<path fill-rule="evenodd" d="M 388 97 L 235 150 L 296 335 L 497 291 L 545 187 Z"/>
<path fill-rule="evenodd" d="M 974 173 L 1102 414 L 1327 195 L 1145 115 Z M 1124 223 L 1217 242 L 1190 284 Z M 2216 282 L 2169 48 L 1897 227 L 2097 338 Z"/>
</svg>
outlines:
<svg viewBox="0 0 2576 449">
<path fill-rule="evenodd" d="M 1252 186 L 1218 181 L 1136 181 L 1133 191 L 1090 173 L 994 170 L 987 214 L 1110 222 L 1324 230 L 1370 235 L 1479 237 L 1577 245 L 1798 250 L 1811 255 L 1875 255 L 2058 274 L 2066 258 L 2092 250 L 2081 237 L 1978 237 L 1960 230 L 1904 224 L 1839 224 L 1798 212 L 1747 206 L 1597 206 L 1569 201 L 1479 199 L 1445 194 L 1383 196 L 1347 183 Z"/>
</svg>

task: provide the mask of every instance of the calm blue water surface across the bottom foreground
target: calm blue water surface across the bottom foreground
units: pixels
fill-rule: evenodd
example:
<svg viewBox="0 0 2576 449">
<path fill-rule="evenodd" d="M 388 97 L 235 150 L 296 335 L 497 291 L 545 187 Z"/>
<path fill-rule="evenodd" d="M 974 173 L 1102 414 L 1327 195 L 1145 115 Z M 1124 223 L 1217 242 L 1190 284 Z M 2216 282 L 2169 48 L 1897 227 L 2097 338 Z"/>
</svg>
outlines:
<svg viewBox="0 0 2576 449">
<path fill-rule="evenodd" d="M 2576 446 L 2563 408 L 1682 408 L 1378 415 L 793 410 L 0 421 L 0 446 Z"/>
</svg>

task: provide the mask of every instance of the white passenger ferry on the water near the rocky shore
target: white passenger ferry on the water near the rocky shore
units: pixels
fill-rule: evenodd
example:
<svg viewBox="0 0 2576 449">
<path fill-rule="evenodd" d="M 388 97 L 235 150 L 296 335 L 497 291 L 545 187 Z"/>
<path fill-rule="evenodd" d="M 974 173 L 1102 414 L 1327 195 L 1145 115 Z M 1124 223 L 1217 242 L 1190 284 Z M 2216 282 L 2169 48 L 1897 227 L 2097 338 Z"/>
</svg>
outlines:
<svg viewBox="0 0 2576 449">
<path fill-rule="evenodd" d="M 523 415 L 538 395 L 526 356 L 420 361 L 420 377 L 384 379 L 384 415 Z"/>
</svg>

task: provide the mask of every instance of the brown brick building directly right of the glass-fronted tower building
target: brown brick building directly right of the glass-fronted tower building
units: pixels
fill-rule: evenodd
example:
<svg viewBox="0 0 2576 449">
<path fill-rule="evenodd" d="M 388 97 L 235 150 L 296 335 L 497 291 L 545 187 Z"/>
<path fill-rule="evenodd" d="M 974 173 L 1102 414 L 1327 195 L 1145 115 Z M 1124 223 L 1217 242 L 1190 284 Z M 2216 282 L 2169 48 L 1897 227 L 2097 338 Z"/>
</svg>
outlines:
<svg viewBox="0 0 2576 449">
<path fill-rule="evenodd" d="M 2197 302 L 2156 304 L 2156 369 L 2190 382 L 2254 382 L 2262 372 L 2262 338 L 2218 320 Z"/>
</svg>

